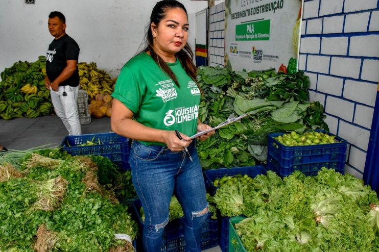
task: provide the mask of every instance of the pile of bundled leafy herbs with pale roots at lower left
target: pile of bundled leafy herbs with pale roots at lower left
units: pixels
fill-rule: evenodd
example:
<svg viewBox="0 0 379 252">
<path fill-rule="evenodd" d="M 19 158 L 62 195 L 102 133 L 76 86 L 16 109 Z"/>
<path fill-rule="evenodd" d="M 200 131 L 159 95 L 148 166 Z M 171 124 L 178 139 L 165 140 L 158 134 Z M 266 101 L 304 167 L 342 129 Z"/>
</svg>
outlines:
<svg viewBox="0 0 379 252">
<path fill-rule="evenodd" d="M 101 165 L 111 161 L 92 158 L 58 149 L 1 156 L 0 250 L 134 251 L 115 239 L 134 239 L 137 226 L 107 190 L 113 179 Z"/>
</svg>

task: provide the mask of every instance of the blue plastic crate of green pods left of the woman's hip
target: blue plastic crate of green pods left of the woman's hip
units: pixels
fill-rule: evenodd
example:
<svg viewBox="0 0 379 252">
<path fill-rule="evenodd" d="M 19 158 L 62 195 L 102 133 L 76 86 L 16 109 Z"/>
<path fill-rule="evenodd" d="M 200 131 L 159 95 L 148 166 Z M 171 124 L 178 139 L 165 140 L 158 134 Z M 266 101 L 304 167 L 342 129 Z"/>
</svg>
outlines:
<svg viewBox="0 0 379 252">
<path fill-rule="evenodd" d="M 102 144 L 77 146 L 87 141 L 98 142 Z M 129 139 L 114 132 L 100 134 L 86 134 L 66 136 L 61 143 L 61 150 L 67 153 L 77 155 L 100 155 L 107 157 L 117 164 L 121 169 L 130 169 L 129 165 Z"/>
</svg>

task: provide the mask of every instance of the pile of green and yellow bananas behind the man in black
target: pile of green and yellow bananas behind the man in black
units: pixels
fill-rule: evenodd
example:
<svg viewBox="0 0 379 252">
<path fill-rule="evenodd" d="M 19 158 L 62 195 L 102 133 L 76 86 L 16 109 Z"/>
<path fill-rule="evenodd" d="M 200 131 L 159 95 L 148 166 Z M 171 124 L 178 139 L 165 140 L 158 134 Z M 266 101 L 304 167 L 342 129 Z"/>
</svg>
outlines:
<svg viewBox="0 0 379 252">
<path fill-rule="evenodd" d="M 114 81 L 109 74 L 98 69 L 94 62 L 79 62 L 78 71 L 80 88 L 87 92 L 89 102 L 97 95 L 101 95 L 102 98 L 107 95 L 104 104 L 108 104 L 104 105 L 106 109 L 101 115 L 110 115 L 111 111 L 106 112 L 111 107 L 110 94 L 113 92 Z M 19 117 L 35 118 L 53 113 L 50 90 L 45 87 L 45 75 L 45 56 L 39 56 L 37 61 L 31 63 L 18 61 L 5 68 L 1 73 L 0 82 L 0 117 L 9 120 Z"/>
</svg>

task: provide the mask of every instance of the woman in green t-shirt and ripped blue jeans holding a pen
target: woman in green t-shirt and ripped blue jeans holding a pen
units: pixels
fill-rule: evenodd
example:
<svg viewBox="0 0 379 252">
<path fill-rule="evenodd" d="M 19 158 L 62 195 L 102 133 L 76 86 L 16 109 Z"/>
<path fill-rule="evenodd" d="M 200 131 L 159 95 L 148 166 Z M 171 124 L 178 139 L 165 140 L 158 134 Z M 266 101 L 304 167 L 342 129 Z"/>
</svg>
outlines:
<svg viewBox="0 0 379 252">
<path fill-rule="evenodd" d="M 181 3 L 158 2 L 150 17 L 146 48 L 125 64 L 112 94 L 112 130 L 134 139 L 129 162 L 145 212 L 145 251 L 160 251 L 173 194 L 185 215 L 186 251 L 201 251 L 202 225 L 208 215 L 196 141 L 189 136 L 210 127 L 198 119 L 202 90 L 187 44 L 188 28 Z"/>
</svg>

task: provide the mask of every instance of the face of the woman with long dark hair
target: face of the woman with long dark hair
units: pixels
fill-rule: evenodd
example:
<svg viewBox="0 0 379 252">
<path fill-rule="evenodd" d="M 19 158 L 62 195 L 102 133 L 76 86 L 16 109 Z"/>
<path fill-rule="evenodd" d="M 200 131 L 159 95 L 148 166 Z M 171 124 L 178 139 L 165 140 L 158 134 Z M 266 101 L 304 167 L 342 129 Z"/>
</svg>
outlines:
<svg viewBox="0 0 379 252">
<path fill-rule="evenodd" d="M 181 8 L 170 8 L 159 25 L 151 24 L 154 39 L 154 49 L 160 56 L 174 56 L 188 40 L 188 18 Z"/>
</svg>

